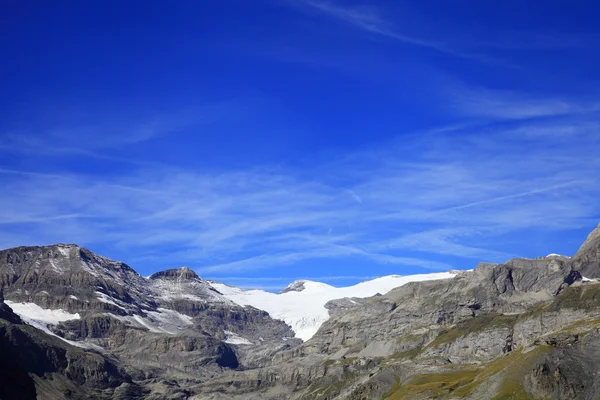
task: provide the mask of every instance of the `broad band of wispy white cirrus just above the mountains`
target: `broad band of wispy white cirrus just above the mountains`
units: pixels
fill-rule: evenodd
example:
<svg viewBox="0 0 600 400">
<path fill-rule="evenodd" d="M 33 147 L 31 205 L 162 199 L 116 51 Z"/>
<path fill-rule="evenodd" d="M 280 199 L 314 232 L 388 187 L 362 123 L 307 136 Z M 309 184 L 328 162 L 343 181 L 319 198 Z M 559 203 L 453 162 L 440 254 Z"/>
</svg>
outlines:
<svg viewBox="0 0 600 400">
<path fill-rule="evenodd" d="M 109 180 L 3 169 L 9 195 L 0 199 L 0 224 L 21 244 L 106 246 L 133 264 L 188 264 L 209 277 L 312 260 L 400 274 L 456 266 L 439 255 L 468 266 L 504 261 L 522 255 L 505 249 L 506 237 L 595 224 L 594 124 L 569 117 L 455 126 L 302 171 L 159 166 Z"/>
</svg>

